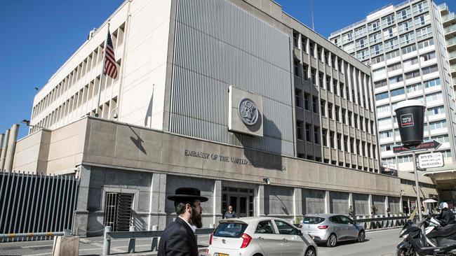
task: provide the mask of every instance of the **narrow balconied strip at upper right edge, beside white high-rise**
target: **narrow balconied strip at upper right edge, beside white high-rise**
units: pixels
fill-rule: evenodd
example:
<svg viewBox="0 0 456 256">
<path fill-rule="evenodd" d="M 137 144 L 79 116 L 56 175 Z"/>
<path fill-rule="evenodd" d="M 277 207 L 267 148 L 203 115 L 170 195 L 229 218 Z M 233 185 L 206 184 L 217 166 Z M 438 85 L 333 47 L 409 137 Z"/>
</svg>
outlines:
<svg viewBox="0 0 456 256">
<path fill-rule="evenodd" d="M 448 51 L 448 62 L 450 62 L 451 85 L 456 92 L 456 15 L 450 12 L 446 3 L 438 6 L 441 11 L 443 34 L 446 40 Z"/>
</svg>

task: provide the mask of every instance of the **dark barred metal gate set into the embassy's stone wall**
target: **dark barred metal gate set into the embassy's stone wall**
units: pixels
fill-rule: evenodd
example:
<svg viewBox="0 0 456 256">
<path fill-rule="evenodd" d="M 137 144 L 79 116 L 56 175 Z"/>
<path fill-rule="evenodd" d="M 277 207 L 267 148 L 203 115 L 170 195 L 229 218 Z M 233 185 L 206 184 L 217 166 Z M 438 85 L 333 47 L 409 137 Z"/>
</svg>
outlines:
<svg viewBox="0 0 456 256">
<path fill-rule="evenodd" d="M 112 231 L 128 231 L 132 224 L 131 206 L 133 194 L 106 193 L 104 226 L 111 226 Z"/>
</svg>

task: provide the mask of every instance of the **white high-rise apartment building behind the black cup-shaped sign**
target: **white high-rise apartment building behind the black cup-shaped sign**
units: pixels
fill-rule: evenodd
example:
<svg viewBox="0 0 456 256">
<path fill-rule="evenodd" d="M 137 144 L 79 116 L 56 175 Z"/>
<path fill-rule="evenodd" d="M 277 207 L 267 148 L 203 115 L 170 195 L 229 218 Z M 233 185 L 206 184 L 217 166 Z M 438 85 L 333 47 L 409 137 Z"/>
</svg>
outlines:
<svg viewBox="0 0 456 256">
<path fill-rule="evenodd" d="M 411 155 L 393 153 L 401 144 L 394 108 L 405 99 L 424 102 L 424 139 L 442 143 L 437 151 L 445 164 L 455 160 L 455 100 L 446 50 L 451 40 L 442 21 L 433 1 L 405 1 L 330 35 L 331 42 L 371 66 L 384 168 L 413 170 Z"/>
</svg>

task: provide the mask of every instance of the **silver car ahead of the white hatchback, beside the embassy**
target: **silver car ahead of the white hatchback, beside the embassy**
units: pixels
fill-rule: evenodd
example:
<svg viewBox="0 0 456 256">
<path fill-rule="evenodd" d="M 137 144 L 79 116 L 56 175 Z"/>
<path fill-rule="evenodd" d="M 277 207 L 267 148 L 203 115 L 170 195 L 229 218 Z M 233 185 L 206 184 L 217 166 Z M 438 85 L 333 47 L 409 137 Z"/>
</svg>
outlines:
<svg viewBox="0 0 456 256">
<path fill-rule="evenodd" d="M 364 226 L 345 215 L 306 215 L 299 227 L 302 233 L 309 234 L 316 243 L 326 243 L 329 247 L 335 246 L 339 241 L 363 242 L 366 239 Z"/>
</svg>

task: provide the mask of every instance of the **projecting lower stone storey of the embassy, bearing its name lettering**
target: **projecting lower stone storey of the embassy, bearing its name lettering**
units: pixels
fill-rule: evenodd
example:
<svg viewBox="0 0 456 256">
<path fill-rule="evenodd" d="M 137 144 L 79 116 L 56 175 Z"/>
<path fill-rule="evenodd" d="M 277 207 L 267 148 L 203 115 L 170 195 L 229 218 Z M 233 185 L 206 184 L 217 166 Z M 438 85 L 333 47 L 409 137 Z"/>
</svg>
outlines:
<svg viewBox="0 0 456 256">
<path fill-rule="evenodd" d="M 60 143 L 43 141 L 48 148 L 41 146 L 41 151 L 62 151 L 62 145 L 68 143 L 82 145 L 81 155 L 73 152 L 76 156 L 67 156 L 79 162 L 55 162 L 49 154 L 48 163 L 54 163 L 47 164 L 43 172 L 58 174 L 76 167 L 81 184 L 75 229 L 81 235 L 102 229 L 107 192 L 134 195 L 133 223 L 143 230 L 154 225 L 161 229 L 173 221 L 173 202 L 166 197 L 182 185 L 198 187 L 209 198 L 202 204 L 205 227 L 222 218 L 222 195 L 227 188 L 252 191 L 252 204 L 248 205 L 253 207 L 252 215 L 288 220 L 311 213 L 347 214 L 349 205 L 354 206 L 357 215 L 369 215 L 370 197 L 378 205 L 378 214 L 384 214 L 385 199 L 391 202 L 391 198 L 398 201 L 401 197 L 400 180 L 395 177 L 98 118 L 84 118 L 47 133 L 52 141 L 66 130 L 79 132 L 60 137 Z M 18 141 L 17 148 L 36 141 L 36 134 Z M 209 157 L 192 156 L 189 151 L 204 152 Z M 32 162 L 39 162 L 39 155 L 43 154 L 35 154 Z M 21 158 L 20 154 L 15 157 L 19 162 Z M 269 178 L 271 185 L 265 185 L 263 178 Z"/>
</svg>

